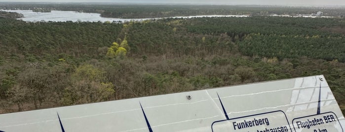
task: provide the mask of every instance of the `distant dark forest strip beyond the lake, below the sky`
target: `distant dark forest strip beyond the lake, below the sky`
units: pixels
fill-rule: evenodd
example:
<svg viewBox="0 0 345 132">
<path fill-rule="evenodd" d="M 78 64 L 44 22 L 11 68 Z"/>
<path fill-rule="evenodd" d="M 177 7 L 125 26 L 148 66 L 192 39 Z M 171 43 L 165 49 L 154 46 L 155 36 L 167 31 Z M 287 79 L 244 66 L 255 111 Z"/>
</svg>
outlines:
<svg viewBox="0 0 345 132">
<path fill-rule="evenodd" d="M 194 15 L 249 15 L 268 16 L 270 14 L 291 15 L 324 12 L 324 16 L 345 17 L 344 7 L 273 6 L 273 5 L 160 5 L 160 4 L 114 4 L 114 3 L 6 3 L 0 2 L 0 9 L 45 11 L 62 10 L 100 13 L 112 18 L 157 18 Z"/>
</svg>

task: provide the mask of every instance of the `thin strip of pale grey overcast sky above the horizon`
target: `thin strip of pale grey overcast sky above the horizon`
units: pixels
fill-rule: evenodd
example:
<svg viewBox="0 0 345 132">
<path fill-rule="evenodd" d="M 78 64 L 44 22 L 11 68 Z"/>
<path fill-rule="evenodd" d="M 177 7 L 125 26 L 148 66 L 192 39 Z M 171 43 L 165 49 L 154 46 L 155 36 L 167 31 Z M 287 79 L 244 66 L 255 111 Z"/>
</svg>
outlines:
<svg viewBox="0 0 345 132">
<path fill-rule="evenodd" d="M 188 4 L 345 5 L 345 0 L 0 0 L 9 2 L 120 2 Z"/>
</svg>

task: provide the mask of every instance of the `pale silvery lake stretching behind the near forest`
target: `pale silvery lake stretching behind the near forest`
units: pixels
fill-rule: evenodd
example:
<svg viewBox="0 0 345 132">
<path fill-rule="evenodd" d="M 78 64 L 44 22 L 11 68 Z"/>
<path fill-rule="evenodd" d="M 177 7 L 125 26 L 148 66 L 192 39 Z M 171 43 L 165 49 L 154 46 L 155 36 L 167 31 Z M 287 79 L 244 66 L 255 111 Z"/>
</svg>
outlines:
<svg viewBox="0 0 345 132">
<path fill-rule="evenodd" d="M 33 12 L 32 10 L 2 10 L 8 12 L 17 12 L 24 15 L 23 18 L 18 18 L 18 20 L 23 20 L 27 22 L 38 22 L 38 21 L 55 21 L 55 22 L 66 22 L 66 21 L 82 21 L 82 22 L 106 22 L 106 21 L 142 21 L 148 19 L 161 19 L 161 18 L 142 18 L 142 19 L 122 19 L 122 18 L 106 18 L 101 17 L 98 13 L 84 13 L 76 11 L 58 11 L 52 10 L 51 12 Z M 193 18 L 193 17 L 248 17 L 246 15 L 199 15 L 199 16 L 177 16 L 172 18 Z"/>
</svg>

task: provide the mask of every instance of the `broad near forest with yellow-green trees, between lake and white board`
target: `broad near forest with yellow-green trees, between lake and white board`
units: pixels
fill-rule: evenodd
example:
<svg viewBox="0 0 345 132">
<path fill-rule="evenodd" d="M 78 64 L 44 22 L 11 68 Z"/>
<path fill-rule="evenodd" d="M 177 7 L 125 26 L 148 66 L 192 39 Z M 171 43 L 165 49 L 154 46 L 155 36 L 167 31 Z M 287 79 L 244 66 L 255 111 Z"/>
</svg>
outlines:
<svg viewBox="0 0 345 132">
<path fill-rule="evenodd" d="M 345 112 L 344 18 L 0 18 L 0 113 L 323 74 Z"/>
</svg>

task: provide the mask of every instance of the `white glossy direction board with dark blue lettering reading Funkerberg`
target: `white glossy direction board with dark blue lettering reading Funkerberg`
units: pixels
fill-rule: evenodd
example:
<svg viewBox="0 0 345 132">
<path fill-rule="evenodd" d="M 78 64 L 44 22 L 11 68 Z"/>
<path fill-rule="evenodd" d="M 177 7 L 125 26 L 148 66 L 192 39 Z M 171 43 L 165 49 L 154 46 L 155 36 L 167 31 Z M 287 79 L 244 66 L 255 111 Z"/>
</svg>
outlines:
<svg viewBox="0 0 345 132">
<path fill-rule="evenodd" d="M 0 132 L 344 132 L 323 75 L 0 114 Z"/>
</svg>

